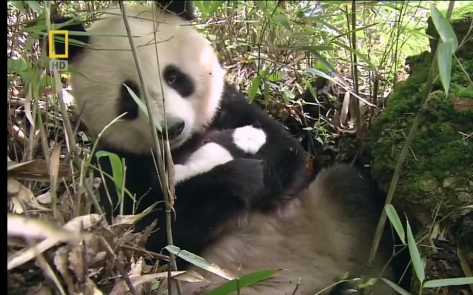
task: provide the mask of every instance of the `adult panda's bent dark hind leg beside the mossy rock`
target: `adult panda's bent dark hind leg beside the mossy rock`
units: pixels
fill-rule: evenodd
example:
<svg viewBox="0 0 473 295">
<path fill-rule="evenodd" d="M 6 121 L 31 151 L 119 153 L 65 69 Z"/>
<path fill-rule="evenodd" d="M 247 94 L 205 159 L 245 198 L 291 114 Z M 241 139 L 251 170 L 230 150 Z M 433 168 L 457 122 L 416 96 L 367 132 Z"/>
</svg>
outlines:
<svg viewBox="0 0 473 295">
<path fill-rule="evenodd" d="M 340 231 L 345 231 L 355 251 L 347 252 L 347 259 L 355 261 L 356 272 L 351 277 L 370 276 L 393 279 L 391 268 L 385 267 L 392 254 L 393 241 L 389 235 L 381 240 L 376 260 L 371 269 L 367 268 L 368 256 L 374 239 L 374 231 L 383 210 L 384 200 L 377 187 L 354 166 L 336 165 L 322 170 L 309 187 L 309 194 L 314 197 L 314 205 L 329 212 L 329 218 L 335 219 Z M 386 231 L 385 231 L 386 232 Z M 377 282 L 374 294 L 391 294 L 390 287 Z M 377 293 L 378 290 L 383 293 Z M 336 285 L 330 295 L 358 294 L 353 281 Z"/>
</svg>

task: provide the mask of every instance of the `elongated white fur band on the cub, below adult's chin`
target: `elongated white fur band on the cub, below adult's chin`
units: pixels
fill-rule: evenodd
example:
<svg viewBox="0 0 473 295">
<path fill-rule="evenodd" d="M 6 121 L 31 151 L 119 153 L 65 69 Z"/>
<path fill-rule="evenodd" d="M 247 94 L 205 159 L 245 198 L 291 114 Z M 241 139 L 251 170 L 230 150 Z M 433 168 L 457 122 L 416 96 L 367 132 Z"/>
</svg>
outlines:
<svg viewBox="0 0 473 295">
<path fill-rule="evenodd" d="M 205 144 L 194 152 L 184 165 L 174 166 L 174 182 L 178 184 L 232 160 L 232 155 L 224 147 L 216 143 Z"/>
</svg>

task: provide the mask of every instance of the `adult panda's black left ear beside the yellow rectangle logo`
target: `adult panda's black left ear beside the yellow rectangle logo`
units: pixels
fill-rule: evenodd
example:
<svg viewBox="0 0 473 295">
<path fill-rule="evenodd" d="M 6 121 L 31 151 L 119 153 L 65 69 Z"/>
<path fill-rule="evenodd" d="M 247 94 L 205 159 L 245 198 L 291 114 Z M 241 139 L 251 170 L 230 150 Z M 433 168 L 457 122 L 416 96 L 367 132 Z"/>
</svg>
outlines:
<svg viewBox="0 0 473 295">
<path fill-rule="evenodd" d="M 74 32 L 86 32 L 83 23 L 71 17 L 55 16 L 51 18 L 51 23 L 54 25 L 54 30 L 67 30 Z M 57 55 L 63 55 L 65 53 L 65 44 L 63 36 L 61 39 L 55 36 L 54 38 L 54 52 Z M 75 42 L 75 41 L 79 41 Z M 72 61 L 76 56 L 78 56 L 82 50 L 84 50 L 84 45 L 88 44 L 89 36 L 84 35 L 69 35 L 69 44 L 68 44 L 68 58 L 67 60 Z M 82 44 L 81 44 L 82 43 Z M 49 36 L 47 42 L 47 53 L 49 55 Z"/>
</svg>

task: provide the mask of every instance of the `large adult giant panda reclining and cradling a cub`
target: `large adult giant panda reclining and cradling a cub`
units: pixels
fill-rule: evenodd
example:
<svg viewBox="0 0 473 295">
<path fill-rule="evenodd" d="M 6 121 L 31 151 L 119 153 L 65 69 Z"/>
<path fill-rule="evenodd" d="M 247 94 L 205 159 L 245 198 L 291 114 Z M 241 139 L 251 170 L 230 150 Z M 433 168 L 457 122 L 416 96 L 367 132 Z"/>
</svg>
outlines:
<svg viewBox="0 0 473 295">
<path fill-rule="evenodd" d="M 176 184 L 174 244 L 235 276 L 284 269 L 270 280 L 241 290 L 242 295 L 293 294 L 296 286 L 295 294 L 309 295 L 334 284 L 346 272 L 381 275 L 388 248 L 381 248 L 370 272 L 364 269 L 381 213 L 366 179 L 348 165 L 327 168 L 313 179 L 305 168 L 307 155 L 296 139 L 224 81 L 224 70 L 210 42 L 190 25 L 194 16 L 191 2 L 166 2 L 156 1 L 158 26 L 152 6 L 134 5 L 126 11 L 152 115 L 161 126 L 165 126 L 164 111 L 167 117 L 174 163 L 185 165 L 202 147 L 208 132 L 237 129 L 255 121 L 265 132 L 265 144 L 256 153 L 229 161 L 210 152 L 203 156 L 215 166 Z M 86 31 L 67 18 L 55 22 L 61 24 L 57 29 Z M 162 194 L 151 154 L 156 150 L 149 119 L 124 86 L 143 97 L 129 40 L 123 37 L 126 30 L 120 9 L 108 10 L 87 32 L 92 35 L 69 35 L 87 44 L 83 48 L 69 42 L 69 64 L 78 72 L 70 81 L 74 99 L 89 133 L 99 140 L 98 150 L 125 159 L 126 186 L 139 199 L 136 209 L 140 211 L 162 201 Z M 113 34 L 118 37 L 110 37 Z M 60 46 L 56 44 L 57 52 Z M 106 159 L 99 164 L 111 173 Z M 108 203 L 108 195 L 114 204 L 117 196 L 114 184 L 107 187 L 101 204 L 110 216 L 117 211 Z M 124 213 L 132 213 L 135 206 L 128 198 L 124 202 Z M 163 224 L 164 210 L 149 214 L 137 228 L 154 219 Z M 166 245 L 161 226 L 146 246 L 159 251 Z M 184 294 L 205 294 L 224 282 L 197 267 L 185 267 L 207 281 L 183 284 Z M 393 279 L 390 268 L 382 276 Z M 394 292 L 378 282 L 374 294 Z"/>
</svg>

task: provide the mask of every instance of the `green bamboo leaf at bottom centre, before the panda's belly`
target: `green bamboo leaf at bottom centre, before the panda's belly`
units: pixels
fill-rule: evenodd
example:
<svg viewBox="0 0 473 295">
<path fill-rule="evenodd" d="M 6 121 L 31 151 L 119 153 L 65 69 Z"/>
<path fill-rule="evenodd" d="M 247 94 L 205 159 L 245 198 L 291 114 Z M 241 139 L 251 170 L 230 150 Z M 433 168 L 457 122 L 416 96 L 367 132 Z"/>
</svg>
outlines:
<svg viewBox="0 0 473 295">
<path fill-rule="evenodd" d="M 254 273 L 236 278 L 228 283 L 225 283 L 217 287 L 216 289 L 210 291 L 206 295 L 235 294 L 237 293 L 238 290 L 241 290 L 245 287 L 265 281 L 267 279 L 270 279 L 279 271 L 280 270 L 278 269 L 269 269 L 269 270 L 262 270 L 262 271 L 254 272 Z"/>
</svg>

